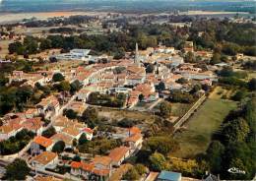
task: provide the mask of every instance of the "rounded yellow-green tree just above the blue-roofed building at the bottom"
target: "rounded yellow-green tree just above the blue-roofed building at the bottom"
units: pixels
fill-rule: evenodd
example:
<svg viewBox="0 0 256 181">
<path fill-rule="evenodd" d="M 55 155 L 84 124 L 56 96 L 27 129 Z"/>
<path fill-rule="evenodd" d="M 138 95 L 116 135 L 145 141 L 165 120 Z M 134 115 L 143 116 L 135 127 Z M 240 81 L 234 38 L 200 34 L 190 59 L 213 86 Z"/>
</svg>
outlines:
<svg viewBox="0 0 256 181">
<path fill-rule="evenodd" d="M 166 169 L 167 165 L 165 157 L 159 152 L 153 153 L 150 156 L 150 166 L 154 171 Z"/>
</svg>

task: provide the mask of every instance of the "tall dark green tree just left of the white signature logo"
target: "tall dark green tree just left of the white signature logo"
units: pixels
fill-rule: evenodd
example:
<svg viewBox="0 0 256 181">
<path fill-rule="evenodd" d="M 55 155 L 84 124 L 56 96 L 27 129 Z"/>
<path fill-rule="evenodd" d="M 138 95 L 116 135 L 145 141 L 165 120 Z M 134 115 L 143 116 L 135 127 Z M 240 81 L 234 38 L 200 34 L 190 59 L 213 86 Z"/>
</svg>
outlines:
<svg viewBox="0 0 256 181">
<path fill-rule="evenodd" d="M 211 171 L 215 174 L 220 173 L 222 170 L 224 146 L 219 141 L 213 141 L 206 152 Z"/>
</svg>

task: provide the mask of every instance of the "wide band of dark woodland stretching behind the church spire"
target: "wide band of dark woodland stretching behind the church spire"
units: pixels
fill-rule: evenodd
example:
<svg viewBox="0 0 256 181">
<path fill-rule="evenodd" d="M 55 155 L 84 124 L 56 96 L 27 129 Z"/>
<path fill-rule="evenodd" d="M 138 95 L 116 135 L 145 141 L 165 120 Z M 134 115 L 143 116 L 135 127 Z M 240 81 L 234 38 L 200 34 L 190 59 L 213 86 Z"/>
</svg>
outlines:
<svg viewBox="0 0 256 181">
<path fill-rule="evenodd" d="M 241 35 L 242 34 L 242 35 Z M 256 29 L 253 24 L 233 24 L 226 20 L 200 19 L 191 28 L 174 28 L 171 25 L 126 25 L 122 32 L 101 35 L 49 35 L 47 38 L 28 36 L 24 42 L 14 42 L 9 52 L 19 55 L 33 54 L 50 48 L 89 48 L 96 53 L 116 54 L 132 51 L 135 42 L 141 49 L 156 47 L 160 42 L 166 46 L 182 49 L 186 40 L 192 40 L 197 50 L 213 49 L 215 53 L 234 56 L 236 53 L 256 55 Z"/>
</svg>

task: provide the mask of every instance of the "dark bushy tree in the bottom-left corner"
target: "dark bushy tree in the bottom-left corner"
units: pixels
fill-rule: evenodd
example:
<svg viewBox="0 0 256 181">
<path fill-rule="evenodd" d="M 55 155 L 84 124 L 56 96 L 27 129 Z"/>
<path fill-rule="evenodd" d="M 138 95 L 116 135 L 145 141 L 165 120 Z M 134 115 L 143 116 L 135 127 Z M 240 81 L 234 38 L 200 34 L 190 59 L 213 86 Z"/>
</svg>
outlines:
<svg viewBox="0 0 256 181">
<path fill-rule="evenodd" d="M 4 175 L 7 180 L 26 180 L 26 176 L 31 172 L 31 168 L 23 159 L 16 158 L 12 163 L 6 166 Z"/>
</svg>

